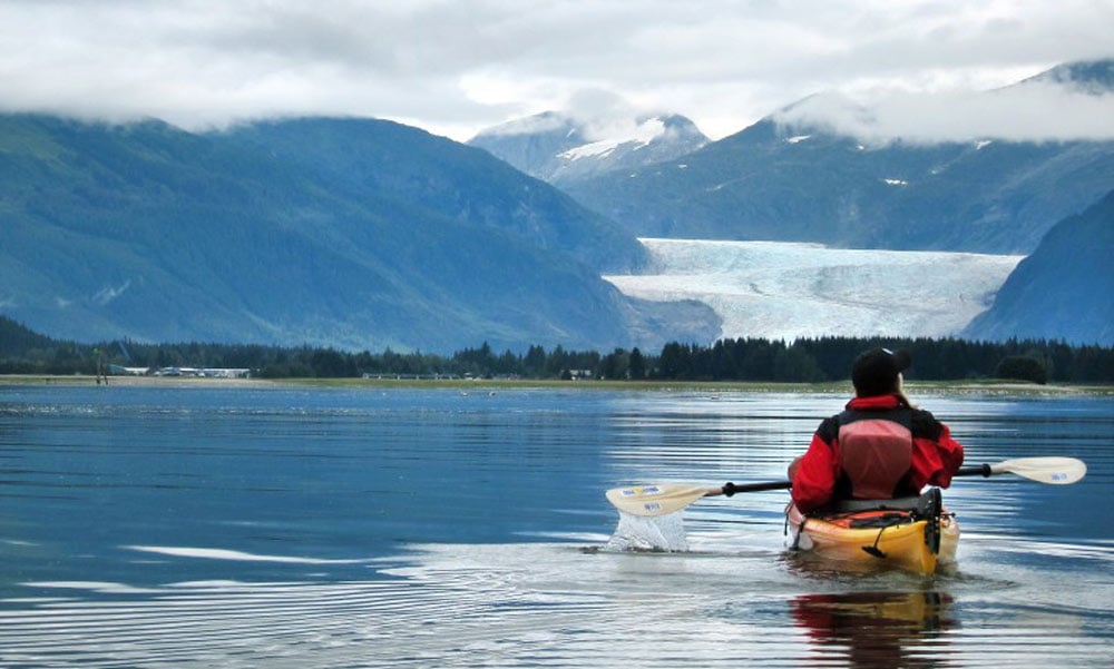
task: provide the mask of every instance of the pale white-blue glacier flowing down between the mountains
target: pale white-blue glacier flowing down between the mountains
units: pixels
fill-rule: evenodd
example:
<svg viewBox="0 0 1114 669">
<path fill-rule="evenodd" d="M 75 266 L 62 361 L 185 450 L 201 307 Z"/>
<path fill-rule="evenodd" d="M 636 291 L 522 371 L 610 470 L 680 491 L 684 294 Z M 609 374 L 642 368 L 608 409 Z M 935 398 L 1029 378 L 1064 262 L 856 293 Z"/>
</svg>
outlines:
<svg viewBox="0 0 1114 669">
<path fill-rule="evenodd" d="M 641 238 L 641 274 L 604 279 L 631 297 L 694 299 L 719 338 L 946 337 L 986 311 L 1025 256 Z"/>
</svg>

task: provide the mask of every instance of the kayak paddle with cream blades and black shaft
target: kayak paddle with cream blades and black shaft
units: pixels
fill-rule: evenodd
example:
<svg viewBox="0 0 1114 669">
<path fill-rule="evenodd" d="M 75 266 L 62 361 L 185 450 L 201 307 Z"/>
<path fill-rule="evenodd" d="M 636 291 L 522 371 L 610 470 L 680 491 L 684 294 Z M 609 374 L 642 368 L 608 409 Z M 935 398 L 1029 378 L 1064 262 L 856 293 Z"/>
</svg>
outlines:
<svg viewBox="0 0 1114 669">
<path fill-rule="evenodd" d="M 994 476 L 1016 474 L 1032 481 L 1065 485 L 1075 483 L 1087 473 L 1087 465 L 1074 458 L 1017 458 L 995 464 L 961 468 L 956 476 Z M 762 483 L 725 483 L 710 488 L 695 483 L 656 483 L 652 485 L 629 485 L 607 491 L 607 501 L 619 511 L 633 515 L 655 516 L 681 511 L 701 498 L 716 495 L 731 496 L 736 492 L 760 492 L 763 490 L 786 490 L 789 481 L 766 481 Z"/>
</svg>

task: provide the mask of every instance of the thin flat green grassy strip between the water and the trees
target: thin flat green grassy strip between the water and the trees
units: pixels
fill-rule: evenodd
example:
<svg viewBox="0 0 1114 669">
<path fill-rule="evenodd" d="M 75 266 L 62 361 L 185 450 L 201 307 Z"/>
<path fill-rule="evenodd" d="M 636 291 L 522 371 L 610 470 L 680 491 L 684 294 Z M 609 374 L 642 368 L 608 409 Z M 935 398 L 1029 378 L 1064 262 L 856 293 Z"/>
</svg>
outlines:
<svg viewBox="0 0 1114 669">
<path fill-rule="evenodd" d="M 91 375 L 0 374 L 0 387 L 16 385 L 36 386 L 97 386 Z M 104 382 L 99 385 L 105 385 Z M 959 380 L 907 382 L 910 395 L 1024 395 L 1024 396 L 1114 396 L 1114 385 L 1048 384 L 1038 385 L 1017 381 Z M 217 378 L 208 376 L 109 376 L 106 388 L 113 387 L 219 387 L 219 388 L 452 388 L 452 390 L 514 390 L 567 388 L 610 391 L 677 391 L 677 392 L 742 392 L 742 393 L 851 393 L 850 381 L 824 383 L 778 383 L 742 381 L 558 381 L 546 378 L 447 378 L 414 380 L 382 376 L 377 378 Z"/>
</svg>

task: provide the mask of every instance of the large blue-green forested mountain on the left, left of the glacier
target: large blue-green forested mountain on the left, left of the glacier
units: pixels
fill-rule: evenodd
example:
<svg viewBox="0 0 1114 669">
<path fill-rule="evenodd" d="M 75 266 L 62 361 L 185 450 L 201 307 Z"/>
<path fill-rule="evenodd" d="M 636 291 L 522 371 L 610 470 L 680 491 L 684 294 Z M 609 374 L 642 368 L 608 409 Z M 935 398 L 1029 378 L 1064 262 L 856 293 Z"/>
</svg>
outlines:
<svg viewBox="0 0 1114 669">
<path fill-rule="evenodd" d="M 388 121 L 0 116 L 0 311 L 56 337 L 605 347 L 672 323 L 599 277 L 644 262 L 628 233 Z"/>
</svg>

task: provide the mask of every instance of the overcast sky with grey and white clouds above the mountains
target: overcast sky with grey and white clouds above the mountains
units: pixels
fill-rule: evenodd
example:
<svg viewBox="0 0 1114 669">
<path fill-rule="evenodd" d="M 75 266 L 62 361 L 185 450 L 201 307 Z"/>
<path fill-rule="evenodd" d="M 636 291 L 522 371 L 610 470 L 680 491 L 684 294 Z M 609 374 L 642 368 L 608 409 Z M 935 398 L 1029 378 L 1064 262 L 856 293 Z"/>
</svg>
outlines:
<svg viewBox="0 0 1114 669">
<path fill-rule="evenodd" d="M 0 0 L 0 110 L 467 140 L 623 108 L 719 139 L 814 95 L 794 120 L 863 136 L 1114 138 L 1111 95 L 976 95 L 1112 57 L 1112 36 L 1114 0 Z"/>
</svg>

